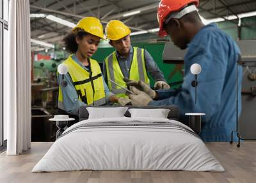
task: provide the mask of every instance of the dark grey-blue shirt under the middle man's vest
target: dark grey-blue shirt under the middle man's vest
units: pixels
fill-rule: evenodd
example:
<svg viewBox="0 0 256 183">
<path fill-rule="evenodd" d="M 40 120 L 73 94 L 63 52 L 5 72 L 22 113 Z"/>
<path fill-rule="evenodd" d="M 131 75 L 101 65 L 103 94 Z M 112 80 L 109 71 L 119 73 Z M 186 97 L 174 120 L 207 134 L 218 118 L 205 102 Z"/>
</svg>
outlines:
<svg viewBox="0 0 256 183">
<path fill-rule="evenodd" d="M 132 58 L 133 58 L 133 47 L 131 46 L 128 57 L 120 56 L 120 54 L 118 54 L 118 52 L 116 51 L 116 58 L 120 65 L 120 68 L 122 70 L 124 77 L 129 78 L 129 71 L 131 68 Z M 152 58 L 152 56 L 149 54 L 149 52 L 147 50 L 144 50 L 144 58 L 145 58 L 146 70 L 152 76 L 152 78 L 154 79 L 154 82 L 156 82 L 156 81 L 165 81 L 166 82 L 166 80 L 164 79 L 163 72 L 161 72 L 161 70 L 157 67 L 156 62 L 154 61 L 154 59 Z M 105 81 L 107 82 L 108 76 L 107 76 L 105 61 L 103 63 L 102 70 L 103 70 L 102 73 L 104 75 Z"/>
</svg>

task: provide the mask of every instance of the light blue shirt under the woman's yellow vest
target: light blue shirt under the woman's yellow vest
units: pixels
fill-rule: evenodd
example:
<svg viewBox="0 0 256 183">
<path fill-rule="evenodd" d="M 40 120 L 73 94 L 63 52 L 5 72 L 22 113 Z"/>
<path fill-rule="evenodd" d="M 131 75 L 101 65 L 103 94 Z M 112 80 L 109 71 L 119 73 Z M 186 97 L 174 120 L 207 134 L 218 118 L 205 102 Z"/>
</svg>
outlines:
<svg viewBox="0 0 256 183">
<path fill-rule="evenodd" d="M 89 67 L 85 67 L 81 63 L 81 61 L 79 61 L 77 59 L 76 54 L 72 55 L 72 60 L 76 61 L 76 63 L 78 63 L 85 70 L 87 70 L 87 71 L 90 70 Z M 65 81 L 67 81 L 67 86 L 63 88 L 64 89 L 63 90 L 63 93 L 64 93 L 63 94 L 63 104 L 65 106 L 67 113 L 70 113 L 72 115 L 77 115 L 78 108 L 80 106 L 86 106 L 86 104 L 84 102 L 82 102 L 81 100 L 78 100 L 76 88 L 74 87 L 73 81 L 72 81 L 71 77 L 69 76 L 69 74 L 65 74 L 64 79 L 65 79 Z M 61 91 L 62 91 L 61 74 L 58 74 L 57 80 L 58 80 L 58 83 L 60 84 Z M 114 94 L 112 92 L 109 92 L 109 88 L 108 88 L 108 85 L 104 81 L 104 77 L 103 77 L 103 84 L 104 84 L 104 92 L 105 92 L 106 102 L 108 102 L 109 97 L 111 97 L 111 95 L 114 95 Z"/>
</svg>

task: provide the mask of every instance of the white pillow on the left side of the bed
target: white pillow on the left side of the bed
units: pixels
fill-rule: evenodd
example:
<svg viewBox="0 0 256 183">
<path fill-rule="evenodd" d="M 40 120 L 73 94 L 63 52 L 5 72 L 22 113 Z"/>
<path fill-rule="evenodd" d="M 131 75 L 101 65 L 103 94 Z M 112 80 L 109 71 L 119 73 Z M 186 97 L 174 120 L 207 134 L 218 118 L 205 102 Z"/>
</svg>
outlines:
<svg viewBox="0 0 256 183">
<path fill-rule="evenodd" d="M 89 113 L 89 119 L 95 118 L 120 118 L 125 117 L 124 114 L 128 107 L 86 107 Z"/>
</svg>

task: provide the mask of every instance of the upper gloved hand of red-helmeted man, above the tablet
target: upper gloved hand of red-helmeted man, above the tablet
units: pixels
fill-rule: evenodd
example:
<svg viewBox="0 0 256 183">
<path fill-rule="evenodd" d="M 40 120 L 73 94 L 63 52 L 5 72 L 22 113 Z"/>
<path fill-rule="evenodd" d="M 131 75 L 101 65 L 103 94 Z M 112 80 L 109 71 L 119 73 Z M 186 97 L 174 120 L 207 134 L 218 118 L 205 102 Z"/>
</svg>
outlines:
<svg viewBox="0 0 256 183">
<path fill-rule="evenodd" d="M 127 86 L 134 86 L 138 90 L 147 93 L 152 99 L 156 98 L 156 92 L 150 88 L 146 83 L 143 81 L 134 81 L 131 79 L 128 79 L 127 77 L 124 78 L 124 81 Z"/>
</svg>

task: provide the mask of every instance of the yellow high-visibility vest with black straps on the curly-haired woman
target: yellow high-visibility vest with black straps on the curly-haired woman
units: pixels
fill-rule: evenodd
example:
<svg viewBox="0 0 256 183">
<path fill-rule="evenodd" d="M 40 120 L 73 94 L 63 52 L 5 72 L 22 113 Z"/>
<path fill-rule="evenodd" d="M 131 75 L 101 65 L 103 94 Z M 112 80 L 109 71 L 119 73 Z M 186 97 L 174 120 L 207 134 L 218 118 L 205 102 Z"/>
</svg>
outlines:
<svg viewBox="0 0 256 183">
<path fill-rule="evenodd" d="M 80 101 L 88 106 L 101 106 L 106 103 L 102 72 L 97 61 L 90 59 L 89 72 L 76 63 L 76 61 L 72 60 L 72 55 L 63 63 L 68 67 L 68 74 L 72 79 Z M 60 86 L 58 107 L 65 110 Z"/>
</svg>

